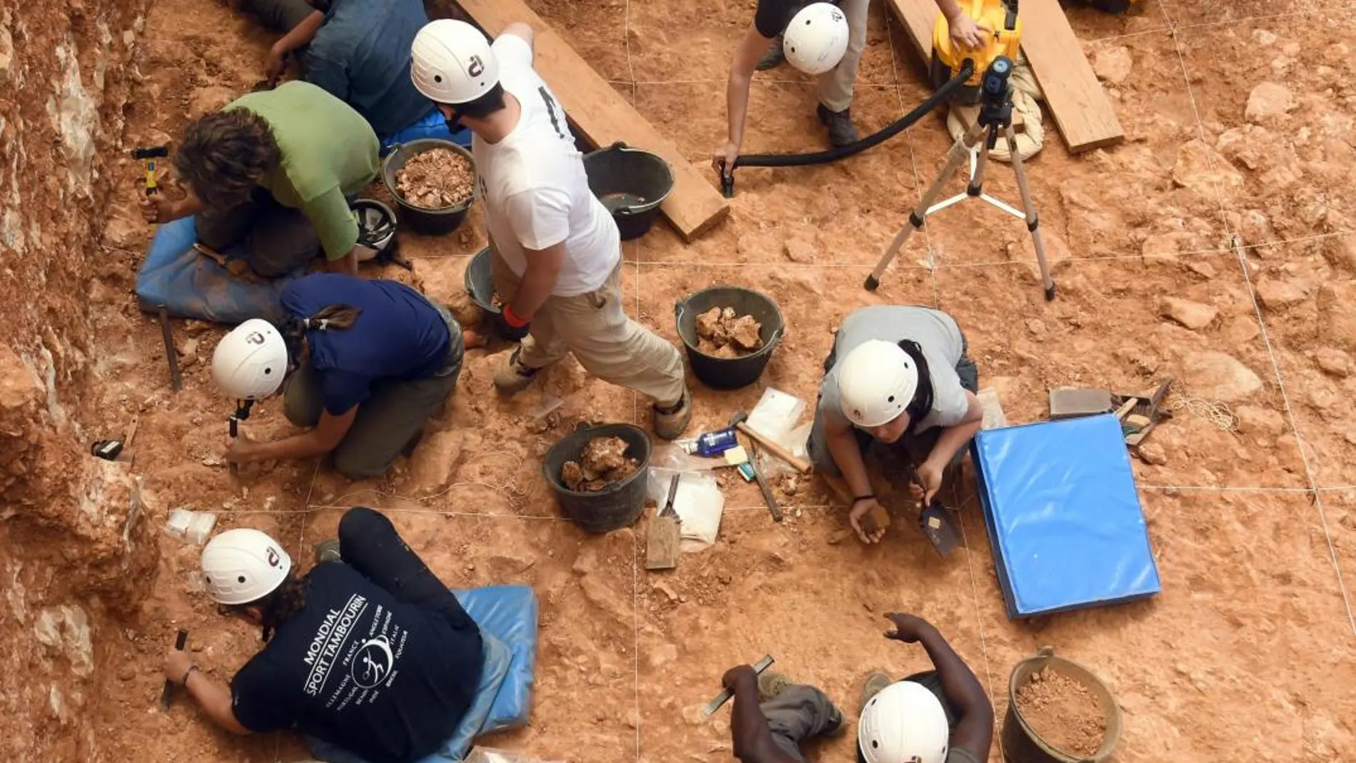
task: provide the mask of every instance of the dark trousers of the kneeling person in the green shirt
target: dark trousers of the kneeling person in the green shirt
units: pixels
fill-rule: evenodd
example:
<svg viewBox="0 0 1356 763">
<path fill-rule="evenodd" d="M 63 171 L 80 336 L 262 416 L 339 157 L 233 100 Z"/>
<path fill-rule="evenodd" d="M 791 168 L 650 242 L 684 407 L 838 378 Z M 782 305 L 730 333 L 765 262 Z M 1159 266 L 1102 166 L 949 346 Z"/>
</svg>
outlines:
<svg viewBox="0 0 1356 763">
<path fill-rule="evenodd" d="M 306 215 L 282 206 L 264 188 L 255 188 L 250 201 L 229 211 L 199 213 L 197 225 L 199 241 L 243 256 L 264 278 L 286 275 L 320 253 L 320 236 Z"/>
</svg>

